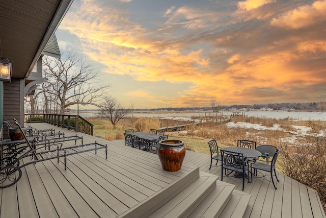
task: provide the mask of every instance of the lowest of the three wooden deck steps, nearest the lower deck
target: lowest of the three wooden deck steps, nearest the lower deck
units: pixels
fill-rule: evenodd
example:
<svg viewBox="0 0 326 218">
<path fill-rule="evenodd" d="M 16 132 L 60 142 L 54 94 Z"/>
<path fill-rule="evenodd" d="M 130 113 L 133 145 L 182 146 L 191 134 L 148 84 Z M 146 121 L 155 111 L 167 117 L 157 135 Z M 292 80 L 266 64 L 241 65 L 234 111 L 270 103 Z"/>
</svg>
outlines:
<svg viewBox="0 0 326 218">
<path fill-rule="evenodd" d="M 233 190 L 232 198 L 229 200 L 219 217 L 238 218 L 243 217 L 247 209 L 251 195 L 242 191 Z"/>
</svg>

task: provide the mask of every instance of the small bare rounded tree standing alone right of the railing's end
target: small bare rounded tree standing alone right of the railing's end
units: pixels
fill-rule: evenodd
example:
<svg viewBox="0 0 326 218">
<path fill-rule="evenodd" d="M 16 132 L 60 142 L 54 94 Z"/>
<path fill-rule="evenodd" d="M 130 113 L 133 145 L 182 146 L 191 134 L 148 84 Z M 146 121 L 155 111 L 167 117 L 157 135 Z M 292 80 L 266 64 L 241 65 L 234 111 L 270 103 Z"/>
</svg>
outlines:
<svg viewBox="0 0 326 218">
<path fill-rule="evenodd" d="M 130 109 L 123 108 L 122 105 L 110 95 L 104 96 L 103 100 L 104 102 L 99 104 L 98 107 L 101 109 L 101 114 L 108 118 L 115 128 L 119 120 L 130 113 Z"/>
</svg>

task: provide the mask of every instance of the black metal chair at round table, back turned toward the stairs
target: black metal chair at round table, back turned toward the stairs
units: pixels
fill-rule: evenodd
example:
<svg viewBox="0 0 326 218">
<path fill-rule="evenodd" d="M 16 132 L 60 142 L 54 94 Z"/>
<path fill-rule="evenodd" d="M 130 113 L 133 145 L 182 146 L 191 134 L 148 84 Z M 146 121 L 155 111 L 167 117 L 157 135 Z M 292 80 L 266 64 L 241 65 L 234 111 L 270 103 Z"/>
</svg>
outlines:
<svg viewBox="0 0 326 218">
<path fill-rule="evenodd" d="M 248 165 L 248 159 L 243 157 L 242 153 L 237 152 L 230 152 L 230 151 L 223 151 L 221 150 L 222 154 L 222 178 L 221 181 L 223 181 L 223 172 L 224 169 L 227 169 L 229 176 L 229 171 L 237 172 L 242 177 L 242 191 L 244 189 L 244 179 L 246 179 L 246 176 L 248 175 L 248 182 L 249 180 L 249 165 Z"/>
</svg>

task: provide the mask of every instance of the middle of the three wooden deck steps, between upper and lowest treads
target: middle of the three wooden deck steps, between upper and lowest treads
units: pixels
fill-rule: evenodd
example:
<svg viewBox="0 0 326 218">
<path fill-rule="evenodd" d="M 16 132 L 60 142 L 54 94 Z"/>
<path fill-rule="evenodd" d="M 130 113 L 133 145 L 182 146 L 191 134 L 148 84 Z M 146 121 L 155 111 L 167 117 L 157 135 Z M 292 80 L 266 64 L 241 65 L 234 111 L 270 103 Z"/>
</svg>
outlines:
<svg viewBox="0 0 326 218">
<path fill-rule="evenodd" d="M 234 185 L 216 181 L 216 187 L 188 217 L 218 217 L 232 198 Z"/>
</svg>

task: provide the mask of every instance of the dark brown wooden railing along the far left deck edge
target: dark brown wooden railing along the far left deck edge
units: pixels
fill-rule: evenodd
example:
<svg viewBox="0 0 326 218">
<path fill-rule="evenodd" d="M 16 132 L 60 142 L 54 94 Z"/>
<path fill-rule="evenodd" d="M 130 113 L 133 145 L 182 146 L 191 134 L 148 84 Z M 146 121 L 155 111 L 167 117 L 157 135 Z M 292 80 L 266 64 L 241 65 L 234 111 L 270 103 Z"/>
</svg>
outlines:
<svg viewBox="0 0 326 218">
<path fill-rule="evenodd" d="M 28 113 L 24 114 L 25 123 L 48 123 L 62 128 L 72 129 L 93 135 L 94 125 L 79 115 L 50 114 L 50 113 Z"/>
</svg>

